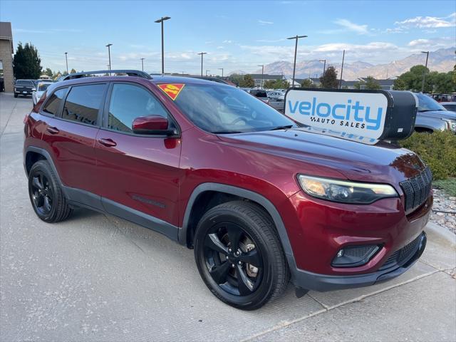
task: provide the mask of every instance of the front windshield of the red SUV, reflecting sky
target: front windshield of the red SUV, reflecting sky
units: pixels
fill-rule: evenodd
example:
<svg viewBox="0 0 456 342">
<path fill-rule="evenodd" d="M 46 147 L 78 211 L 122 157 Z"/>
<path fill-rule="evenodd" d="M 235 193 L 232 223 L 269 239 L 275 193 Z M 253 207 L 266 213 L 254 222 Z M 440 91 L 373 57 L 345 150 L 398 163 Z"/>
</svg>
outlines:
<svg viewBox="0 0 456 342">
<path fill-rule="evenodd" d="M 195 125 L 211 133 L 297 127 L 274 108 L 232 86 L 187 84 L 177 95 L 175 103 Z"/>
</svg>

